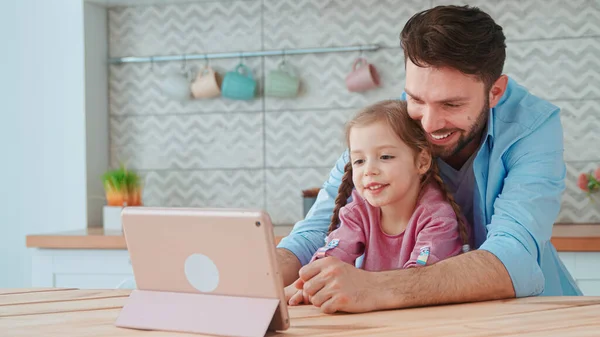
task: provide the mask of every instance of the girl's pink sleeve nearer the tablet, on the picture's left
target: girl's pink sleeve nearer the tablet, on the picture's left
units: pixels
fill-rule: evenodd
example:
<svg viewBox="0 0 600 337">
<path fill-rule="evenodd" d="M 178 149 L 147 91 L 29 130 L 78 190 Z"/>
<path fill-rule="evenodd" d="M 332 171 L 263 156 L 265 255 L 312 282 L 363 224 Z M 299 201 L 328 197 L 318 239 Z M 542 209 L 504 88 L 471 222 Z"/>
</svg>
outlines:
<svg viewBox="0 0 600 337">
<path fill-rule="evenodd" d="M 365 251 L 365 231 L 358 205 L 348 204 L 340 209 L 340 226 L 331 232 L 326 245 L 317 250 L 311 262 L 325 257 L 335 256 L 354 265 L 356 259 Z"/>
</svg>

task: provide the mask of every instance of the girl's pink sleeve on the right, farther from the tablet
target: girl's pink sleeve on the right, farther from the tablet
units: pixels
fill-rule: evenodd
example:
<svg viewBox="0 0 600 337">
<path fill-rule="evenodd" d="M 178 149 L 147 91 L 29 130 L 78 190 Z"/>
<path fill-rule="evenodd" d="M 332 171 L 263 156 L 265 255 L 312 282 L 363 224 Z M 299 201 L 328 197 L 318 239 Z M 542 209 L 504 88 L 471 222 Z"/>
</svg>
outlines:
<svg viewBox="0 0 600 337">
<path fill-rule="evenodd" d="M 446 206 L 446 207 L 444 207 Z M 462 241 L 458 232 L 458 220 L 452 207 L 444 205 L 442 209 L 428 212 L 419 224 L 415 247 L 403 268 L 432 265 L 441 260 L 460 254 Z M 439 214 L 444 210 L 446 214 Z M 447 213 L 450 213 L 449 216 Z M 422 215 L 423 217 L 423 215 Z"/>
</svg>

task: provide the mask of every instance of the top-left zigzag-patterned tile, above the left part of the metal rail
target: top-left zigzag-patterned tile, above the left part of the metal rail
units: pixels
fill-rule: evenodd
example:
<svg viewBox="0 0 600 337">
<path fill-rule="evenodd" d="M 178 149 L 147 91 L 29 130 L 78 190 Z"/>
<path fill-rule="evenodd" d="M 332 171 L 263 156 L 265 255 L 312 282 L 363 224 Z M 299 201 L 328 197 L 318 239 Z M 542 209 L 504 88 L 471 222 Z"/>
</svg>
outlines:
<svg viewBox="0 0 600 337">
<path fill-rule="evenodd" d="M 261 2 L 118 7 L 108 27 L 111 57 L 260 50 Z"/>
</svg>

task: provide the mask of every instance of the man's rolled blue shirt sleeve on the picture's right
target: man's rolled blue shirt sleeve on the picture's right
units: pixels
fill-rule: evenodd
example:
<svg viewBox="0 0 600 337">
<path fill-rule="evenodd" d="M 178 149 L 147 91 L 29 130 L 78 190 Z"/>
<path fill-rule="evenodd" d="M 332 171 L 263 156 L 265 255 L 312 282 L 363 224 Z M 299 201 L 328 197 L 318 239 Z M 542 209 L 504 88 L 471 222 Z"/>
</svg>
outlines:
<svg viewBox="0 0 600 337">
<path fill-rule="evenodd" d="M 507 176 L 480 247 L 504 264 L 517 297 L 539 295 L 544 290 L 541 255 L 552 235 L 565 188 L 558 111 L 506 152 Z"/>
</svg>

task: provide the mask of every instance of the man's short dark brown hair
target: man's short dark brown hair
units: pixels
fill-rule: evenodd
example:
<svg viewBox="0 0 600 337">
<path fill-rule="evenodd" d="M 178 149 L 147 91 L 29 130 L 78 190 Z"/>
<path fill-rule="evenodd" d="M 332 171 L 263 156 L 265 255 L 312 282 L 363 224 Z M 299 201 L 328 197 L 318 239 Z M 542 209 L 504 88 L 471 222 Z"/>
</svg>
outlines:
<svg viewBox="0 0 600 337">
<path fill-rule="evenodd" d="M 400 43 L 404 62 L 449 67 L 483 81 L 486 90 L 502 75 L 506 59 L 502 27 L 477 7 L 438 6 L 413 15 Z"/>
</svg>

